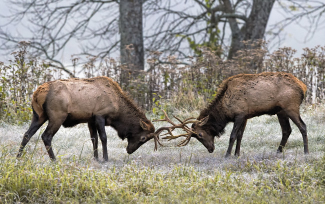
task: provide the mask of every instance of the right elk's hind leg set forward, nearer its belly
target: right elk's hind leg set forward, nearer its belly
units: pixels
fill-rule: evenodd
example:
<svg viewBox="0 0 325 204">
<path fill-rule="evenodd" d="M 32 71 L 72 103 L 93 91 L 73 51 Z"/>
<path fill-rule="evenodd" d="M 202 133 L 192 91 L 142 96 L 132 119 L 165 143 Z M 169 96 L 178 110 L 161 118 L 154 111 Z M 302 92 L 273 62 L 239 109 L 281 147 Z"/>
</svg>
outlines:
<svg viewBox="0 0 325 204">
<path fill-rule="evenodd" d="M 282 152 L 282 149 L 284 148 L 292 130 L 289 122 L 289 117 L 283 111 L 280 111 L 276 115 L 282 130 L 282 139 L 276 151 L 277 153 L 280 153 Z"/>
</svg>

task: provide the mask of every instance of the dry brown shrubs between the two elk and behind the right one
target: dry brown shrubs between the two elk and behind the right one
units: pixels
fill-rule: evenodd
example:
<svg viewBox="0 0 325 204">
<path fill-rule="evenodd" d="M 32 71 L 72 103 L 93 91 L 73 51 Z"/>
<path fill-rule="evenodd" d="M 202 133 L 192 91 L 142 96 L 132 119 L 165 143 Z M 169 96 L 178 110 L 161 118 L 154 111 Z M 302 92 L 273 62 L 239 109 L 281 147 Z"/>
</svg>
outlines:
<svg viewBox="0 0 325 204">
<path fill-rule="evenodd" d="M 85 74 L 87 77 L 105 75 L 113 78 L 138 104 L 157 115 L 161 108 L 199 109 L 214 98 L 223 79 L 240 73 L 289 72 L 307 85 L 308 103 L 324 99 L 324 47 L 305 48 L 304 53 L 295 58 L 296 51 L 291 48 L 284 47 L 269 53 L 265 41 L 243 43 L 244 49 L 238 51 L 232 60 L 220 56 L 220 50 L 207 47 L 198 48 L 198 56 L 189 58 L 185 63 L 175 56 L 162 57 L 162 53 L 152 52 L 147 59 L 147 71 L 123 84 L 120 73 L 127 67 L 111 58 L 105 59 L 96 68 L 97 72 L 88 75 L 87 71 Z M 87 66 L 93 69 L 93 64 Z"/>
</svg>

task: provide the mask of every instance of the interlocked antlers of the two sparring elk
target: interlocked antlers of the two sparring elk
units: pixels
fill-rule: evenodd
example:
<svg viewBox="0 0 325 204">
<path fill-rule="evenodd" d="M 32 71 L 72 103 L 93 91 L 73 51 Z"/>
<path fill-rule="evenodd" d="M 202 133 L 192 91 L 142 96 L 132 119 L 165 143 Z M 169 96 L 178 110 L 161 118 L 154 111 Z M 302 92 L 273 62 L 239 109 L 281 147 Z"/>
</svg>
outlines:
<svg viewBox="0 0 325 204">
<path fill-rule="evenodd" d="M 160 141 L 158 140 L 158 136 L 159 136 L 159 134 L 160 134 L 162 131 L 164 131 L 164 130 L 166 130 L 167 133 L 166 133 L 166 134 L 163 134 L 163 135 L 167 135 L 167 134 L 169 134 L 170 136 L 163 137 L 162 139 L 168 139 L 167 141 L 169 141 L 169 140 L 171 140 L 171 139 L 176 139 L 176 138 L 178 138 L 178 137 L 186 137 L 184 140 L 180 141 L 179 144 L 177 144 L 176 146 L 179 147 L 179 146 L 184 146 L 184 145 L 186 145 L 186 144 L 189 142 L 190 138 L 191 138 L 191 133 L 196 134 L 196 133 L 193 132 L 189 127 L 187 127 L 186 124 L 194 123 L 194 122 L 201 122 L 201 121 L 199 121 L 199 120 L 191 120 L 191 119 L 194 119 L 194 117 L 189 117 L 189 118 L 186 118 L 185 120 L 182 121 L 182 120 L 180 120 L 178 117 L 172 115 L 176 120 L 178 120 L 178 121 L 180 122 L 180 124 L 175 124 L 174 122 L 172 122 L 172 121 L 168 118 L 167 113 L 166 113 L 164 110 L 162 110 L 162 112 L 163 112 L 163 114 L 165 115 L 165 118 L 164 118 L 164 119 L 160 119 L 160 120 L 153 120 L 152 122 L 166 121 L 166 122 L 170 123 L 172 126 L 170 126 L 170 127 L 160 127 L 160 128 L 158 128 L 158 129 L 153 133 L 153 136 L 154 136 L 154 138 L 155 138 L 155 141 L 154 141 L 154 144 L 155 144 L 154 150 L 157 149 L 156 140 L 158 141 L 158 143 L 159 143 L 161 146 L 163 146 L 163 145 L 160 143 Z M 173 135 L 173 134 L 172 134 L 172 131 L 173 131 L 174 129 L 176 129 L 176 128 L 181 128 L 181 129 L 183 129 L 184 131 L 186 131 L 186 133 L 185 133 L 185 134 L 179 134 L 179 135 Z"/>
</svg>

